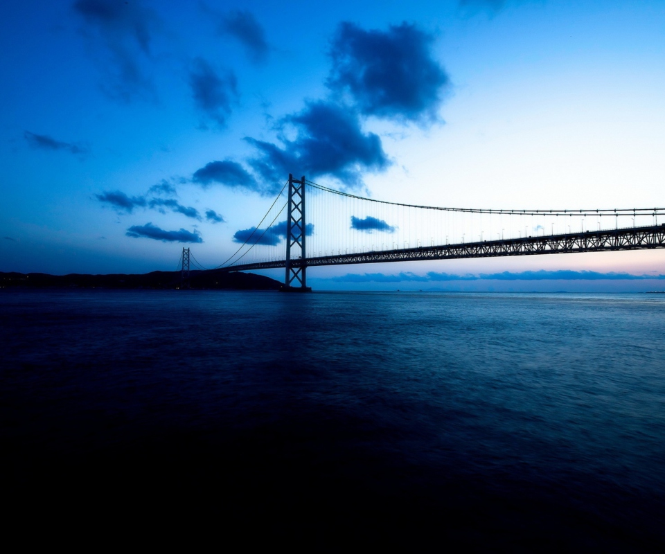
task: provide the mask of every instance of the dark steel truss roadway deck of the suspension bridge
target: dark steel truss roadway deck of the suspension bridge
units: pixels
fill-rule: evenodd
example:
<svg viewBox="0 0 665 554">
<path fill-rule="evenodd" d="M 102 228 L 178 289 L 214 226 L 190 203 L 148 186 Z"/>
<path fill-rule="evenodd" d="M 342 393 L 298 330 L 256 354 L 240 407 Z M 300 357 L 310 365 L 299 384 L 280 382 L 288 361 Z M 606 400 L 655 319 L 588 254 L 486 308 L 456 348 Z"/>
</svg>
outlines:
<svg viewBox="0 0 665 554">
<path fill-rule="evenodd" d="M 337 256 L 296 258 L 292 267 L 323 265 L 373 264 L 380 262 L 411 262 L 416 260 L 456 260 L 459 258 L 493 258 L 496 256 L 530 256 L 573 252 L 610 252 L 665 248 L 665 224 L 628 227 L 604 231 L 585 231 L 562 235 L 544 235 L 506 240 L 484 240 L 436 247 L 417 247 L 345 253 Z M 215 271 L 249 271 L 285 267 L 286 260 L 230 265 Z"/>
</svg>

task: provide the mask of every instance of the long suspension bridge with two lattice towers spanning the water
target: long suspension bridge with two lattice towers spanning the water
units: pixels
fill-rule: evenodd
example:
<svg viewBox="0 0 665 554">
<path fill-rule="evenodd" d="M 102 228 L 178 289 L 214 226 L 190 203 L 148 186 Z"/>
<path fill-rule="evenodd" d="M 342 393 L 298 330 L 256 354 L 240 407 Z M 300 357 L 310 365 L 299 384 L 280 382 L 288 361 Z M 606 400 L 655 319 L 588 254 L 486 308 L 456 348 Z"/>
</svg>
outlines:
<svg viewBox="0 0 665 554">
<path fill-rule="evenodd" d="M 304 292 L 308 267 L 665 248 L 664 211 L 417 206 L 289 175 L 258 225 L 234 235 L 240 246 L 227 260 L 204 267 L 183 249 L 179 266 L 183 283 L 190 263 L 216 271 L 283 268 L 283 290 Z"/>
</svg>

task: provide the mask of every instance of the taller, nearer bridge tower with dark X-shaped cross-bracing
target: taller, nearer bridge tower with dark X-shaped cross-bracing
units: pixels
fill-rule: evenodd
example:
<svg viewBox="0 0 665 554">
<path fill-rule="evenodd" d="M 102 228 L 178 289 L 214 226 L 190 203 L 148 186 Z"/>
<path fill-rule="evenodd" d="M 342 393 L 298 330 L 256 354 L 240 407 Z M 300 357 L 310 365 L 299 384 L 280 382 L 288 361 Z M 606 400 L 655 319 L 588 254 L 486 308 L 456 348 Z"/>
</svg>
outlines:
<svg viewBox="0 0 665 554">
<path fill-rule="evenodd" d="M 305 266 L 305 176 L 298 181 L 289 174 L 289 202 L 286 220 L 286 274 L 284 292 L 309 292 Z"/>
</svg>

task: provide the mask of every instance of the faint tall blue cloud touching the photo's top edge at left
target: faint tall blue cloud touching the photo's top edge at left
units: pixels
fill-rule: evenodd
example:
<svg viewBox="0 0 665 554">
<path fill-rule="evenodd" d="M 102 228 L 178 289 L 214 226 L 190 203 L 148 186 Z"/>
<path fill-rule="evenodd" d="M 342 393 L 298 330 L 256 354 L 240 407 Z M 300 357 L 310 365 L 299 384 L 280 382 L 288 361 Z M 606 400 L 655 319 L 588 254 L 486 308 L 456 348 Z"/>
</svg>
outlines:
<svg viewBox="0 0 665 554">
<path fill-rule="evenodd" d="M 136 96 L 154 98 L 146 65 L 150 62 L 152 28 L 157 18 L 141 1 L 76 0 L 73 10 L 85 21 L 86 35 L 104 46 L 102 89 L 112 98 L 130 102 Z"/>
</svg>

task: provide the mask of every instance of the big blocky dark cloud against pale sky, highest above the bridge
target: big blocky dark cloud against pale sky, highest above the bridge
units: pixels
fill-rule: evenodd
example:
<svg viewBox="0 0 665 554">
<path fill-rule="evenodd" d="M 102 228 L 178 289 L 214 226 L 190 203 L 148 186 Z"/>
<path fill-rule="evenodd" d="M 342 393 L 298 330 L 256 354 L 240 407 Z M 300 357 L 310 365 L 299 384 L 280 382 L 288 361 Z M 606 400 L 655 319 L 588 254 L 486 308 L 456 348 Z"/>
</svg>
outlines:
<svg viewBox="0 0 665 554">
<path fill-rule="evenodd" d="M 432 57 L 433 37 L 402 23 L 387 31 L 343 22 L 330 47 L 328 87 L 348 93 L 362 114 L 420 122 L 438 120 L 448 76 Z"/>
</svg>

